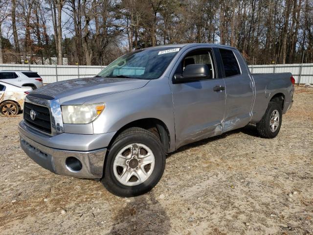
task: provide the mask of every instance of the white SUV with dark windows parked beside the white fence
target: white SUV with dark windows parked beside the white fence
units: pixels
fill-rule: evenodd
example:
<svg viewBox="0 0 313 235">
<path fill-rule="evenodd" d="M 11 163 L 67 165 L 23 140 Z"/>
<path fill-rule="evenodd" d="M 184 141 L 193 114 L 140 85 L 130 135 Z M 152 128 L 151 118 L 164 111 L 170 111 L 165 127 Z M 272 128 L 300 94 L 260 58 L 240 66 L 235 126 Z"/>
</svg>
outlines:
<svg viewBox="0 0 313 235">
<path fill-rule="evenodd" d="M 0 71 L 0 81 L 33 90 L 43 86 L 43 79 L 34 71 Z"/>
</svg>

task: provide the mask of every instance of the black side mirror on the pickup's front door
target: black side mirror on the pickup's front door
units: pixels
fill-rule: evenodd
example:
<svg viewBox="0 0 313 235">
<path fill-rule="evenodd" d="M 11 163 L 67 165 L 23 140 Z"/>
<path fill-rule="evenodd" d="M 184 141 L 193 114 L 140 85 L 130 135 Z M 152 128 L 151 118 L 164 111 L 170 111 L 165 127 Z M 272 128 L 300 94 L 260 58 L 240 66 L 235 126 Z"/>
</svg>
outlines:
<svg viewBox="0 0 313 235">
<path fill-rule="evenodd" d="M 196 80 L 206 79 L 210 76 L 207 65 L 192 64 L 187 65 L 182 74 L 174 75 L 174 83 L 192 82 Z"/>
</svg>

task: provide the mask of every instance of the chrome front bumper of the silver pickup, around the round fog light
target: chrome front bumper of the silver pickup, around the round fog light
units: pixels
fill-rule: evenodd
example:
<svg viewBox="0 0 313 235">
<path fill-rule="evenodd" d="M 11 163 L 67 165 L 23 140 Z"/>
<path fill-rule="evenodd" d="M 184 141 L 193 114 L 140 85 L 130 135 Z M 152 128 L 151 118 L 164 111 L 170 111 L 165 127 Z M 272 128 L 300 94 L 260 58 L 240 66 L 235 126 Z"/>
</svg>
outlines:
<svg viewBox="0 0 313 235">
<path fill-rule="evenodd" d="M 20 131 L 20 142 L 24 152 L 37 164 L 59 175 L 73 176 L 77 178 L 101 178 L 103 174 L 106 148 L 93 151 L 70 151 L 47 147 L 33 141 Z M 70 170 L 66 165 L 68 157 L 77 158 L 82 169 Z"/>
</svg>

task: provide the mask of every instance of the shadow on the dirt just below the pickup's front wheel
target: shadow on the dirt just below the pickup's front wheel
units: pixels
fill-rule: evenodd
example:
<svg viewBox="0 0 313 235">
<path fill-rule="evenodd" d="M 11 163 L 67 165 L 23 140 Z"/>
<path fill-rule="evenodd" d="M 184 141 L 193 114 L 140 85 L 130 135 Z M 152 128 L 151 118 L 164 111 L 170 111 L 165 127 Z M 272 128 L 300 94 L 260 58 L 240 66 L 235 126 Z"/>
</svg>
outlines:
<svg viewBox="0 0 313 235">
<path fill-rule="evenodd" d="M 153 191 L 130 198 L 113 219 L 113 227 L 107 235 L 166 235 L 171 229 L 170 218 Z"/>
</svg>

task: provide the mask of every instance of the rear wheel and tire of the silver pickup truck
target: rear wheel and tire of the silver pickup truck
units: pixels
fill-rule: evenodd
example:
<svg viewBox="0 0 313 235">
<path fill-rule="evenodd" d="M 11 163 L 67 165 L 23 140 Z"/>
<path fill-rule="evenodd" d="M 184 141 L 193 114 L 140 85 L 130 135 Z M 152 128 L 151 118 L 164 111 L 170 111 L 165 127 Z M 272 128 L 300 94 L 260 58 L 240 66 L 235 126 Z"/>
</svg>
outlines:
<svg viewBox="0 0 313 235">
<path fill-rule="evenodd" d="M 275 118 L 276 115 L 278 119 Z M 263 118 L 256 124 L 259 135 L 267 139 L 275 138 L 281 127 L 282 117 L 281 106 L 276 102 L 269 102 Z"/>
</svg>

